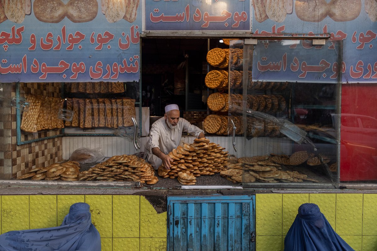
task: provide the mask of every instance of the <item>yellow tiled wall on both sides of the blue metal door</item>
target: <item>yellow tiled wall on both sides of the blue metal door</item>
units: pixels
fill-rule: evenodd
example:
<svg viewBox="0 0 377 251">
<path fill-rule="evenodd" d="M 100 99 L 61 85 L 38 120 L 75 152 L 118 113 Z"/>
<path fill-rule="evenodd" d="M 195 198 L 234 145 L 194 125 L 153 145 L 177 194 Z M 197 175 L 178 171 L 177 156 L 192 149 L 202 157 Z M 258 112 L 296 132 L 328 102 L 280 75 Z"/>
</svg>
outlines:
<svg viewBox="0 0 377 251">
<path fill-rule="evenodd" d="M 70 205 L 90 205 L 103 251 L 165 251 L 167 215 L 136 195 L 2 195 L 1 233 L 61 224 Z M 283 251 L 284 238 L 306 202 L 319 205 L 334 230 L 356 251 L 377 250 L 377 194 L 256 195 L 256 251 Z"/>
</svg>

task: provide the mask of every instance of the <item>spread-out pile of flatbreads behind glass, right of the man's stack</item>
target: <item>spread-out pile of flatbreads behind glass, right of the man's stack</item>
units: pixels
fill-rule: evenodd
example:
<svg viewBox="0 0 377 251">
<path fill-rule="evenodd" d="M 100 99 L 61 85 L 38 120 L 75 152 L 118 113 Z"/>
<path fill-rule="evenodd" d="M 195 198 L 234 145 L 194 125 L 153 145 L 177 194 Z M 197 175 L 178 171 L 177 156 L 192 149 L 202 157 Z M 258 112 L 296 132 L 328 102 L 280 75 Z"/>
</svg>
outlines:
<svg viewBox="0 0 377 251">
<path fill-rule="evenodd" d="M 294 162 L 296 164 L 296 162 Z M 228 164 L 220 175 L 233 183 L 279 183 L 279 182 L 319 182 L 308 175 L 289 170 L 290 156 L 262 155 L 238 158 L 237 163 Z M 285 169 L 285 170 L 283 170 Z"/>
</svg>

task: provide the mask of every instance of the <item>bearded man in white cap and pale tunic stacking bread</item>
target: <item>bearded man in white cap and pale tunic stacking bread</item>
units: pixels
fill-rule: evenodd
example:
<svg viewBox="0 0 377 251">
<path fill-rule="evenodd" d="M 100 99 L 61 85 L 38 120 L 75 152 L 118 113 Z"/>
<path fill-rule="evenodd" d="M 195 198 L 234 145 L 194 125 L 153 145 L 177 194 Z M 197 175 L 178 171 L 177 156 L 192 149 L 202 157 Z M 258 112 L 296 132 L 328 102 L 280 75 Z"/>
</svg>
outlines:
<svg viewBox="0 0 377 251">
<path fill-rule="evenodd" d="M 165 106 L 164 117 L 153 123 L 150 129 L 144 159 L 155 169 L 161 164 L 164 164 L 166 169 L 170 169 L 170 161 L 173 160 L 167 154 L 179 146 L 182 132 L 187 132 L 196 138 L 205 138 L 203 130 L 179 117 L 178 105 Z"/>
</svg>

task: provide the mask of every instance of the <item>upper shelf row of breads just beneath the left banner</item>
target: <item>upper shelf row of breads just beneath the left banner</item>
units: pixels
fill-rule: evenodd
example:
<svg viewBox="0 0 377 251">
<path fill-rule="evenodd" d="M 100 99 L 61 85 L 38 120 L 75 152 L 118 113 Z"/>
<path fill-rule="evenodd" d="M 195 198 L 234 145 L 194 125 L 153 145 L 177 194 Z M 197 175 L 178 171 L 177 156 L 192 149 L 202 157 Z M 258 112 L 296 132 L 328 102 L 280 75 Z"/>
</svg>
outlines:
<svg viewBox="0 0 377 251">
<path fill-rule="evenodd" d="M 72 82 L 66 83 L 68 93 L 123 93 L 123 82 Z"/>
</svg>

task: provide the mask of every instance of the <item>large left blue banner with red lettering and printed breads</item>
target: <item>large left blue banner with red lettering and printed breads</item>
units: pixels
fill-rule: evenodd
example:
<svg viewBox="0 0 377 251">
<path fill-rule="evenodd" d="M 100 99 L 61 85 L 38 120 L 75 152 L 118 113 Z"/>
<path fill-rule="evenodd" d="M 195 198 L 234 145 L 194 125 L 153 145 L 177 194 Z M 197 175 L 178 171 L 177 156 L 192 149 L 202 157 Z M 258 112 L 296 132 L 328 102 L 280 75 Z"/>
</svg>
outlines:
<svg viewBox="0 0 377 251">
<path fill-rule="evenodd" d="M 139 0 L 81 3 L 0 6 L 0 82 L 139 81 Z"/>
</svg>

